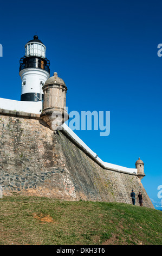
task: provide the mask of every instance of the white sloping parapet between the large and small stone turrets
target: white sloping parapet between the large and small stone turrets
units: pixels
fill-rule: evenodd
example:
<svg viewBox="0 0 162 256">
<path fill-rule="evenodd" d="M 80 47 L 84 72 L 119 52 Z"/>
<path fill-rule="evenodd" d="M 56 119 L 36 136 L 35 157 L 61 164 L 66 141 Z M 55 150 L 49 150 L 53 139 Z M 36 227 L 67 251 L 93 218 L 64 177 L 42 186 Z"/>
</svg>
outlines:
<svg viewBox="0 0 162 256">
<path fill-rule="evenodd" d="M 70 136 L 72 136 L 77 143 L 79 143 L 83 148 L 85 148 L 93 157 L 98 160 L 102 166 L 104 166 L 107 169 L 113 169 L 121 172 L 126 172 L 126 173 L 132 173 L 132 174 L 137 174 L 137 169 L 136 168 L 127 168 L 123 166 L 118 166 L 113 163 L 107 163 L 103 162 L 97 155 L 94 153 L 73 131 L 68 127 L 66 123 L 62 125 L 63 129 L 66 130 Z"/>
</svg>

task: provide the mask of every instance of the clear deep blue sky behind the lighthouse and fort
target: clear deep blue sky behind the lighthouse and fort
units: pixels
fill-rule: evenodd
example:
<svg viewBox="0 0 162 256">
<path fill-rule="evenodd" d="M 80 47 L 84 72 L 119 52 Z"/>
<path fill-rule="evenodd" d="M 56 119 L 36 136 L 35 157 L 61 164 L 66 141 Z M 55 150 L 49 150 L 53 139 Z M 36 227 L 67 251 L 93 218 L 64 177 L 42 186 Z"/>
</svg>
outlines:
<svg viewBox="0 0 162 256">
<path fill-rule="evenodd" d="M 3 1 L 0 16 L 0 97 L 20 100 L 19 60 L 35 32 L 47 47 L 50 75 L 67 87 L 69 111 L 110 111 L 111 132 L 75 131 L 106 162 L 129 168 L 160 205 L 161 1 Z M 160 208 L 157 208 L 160 209 Z"/>
</svg>

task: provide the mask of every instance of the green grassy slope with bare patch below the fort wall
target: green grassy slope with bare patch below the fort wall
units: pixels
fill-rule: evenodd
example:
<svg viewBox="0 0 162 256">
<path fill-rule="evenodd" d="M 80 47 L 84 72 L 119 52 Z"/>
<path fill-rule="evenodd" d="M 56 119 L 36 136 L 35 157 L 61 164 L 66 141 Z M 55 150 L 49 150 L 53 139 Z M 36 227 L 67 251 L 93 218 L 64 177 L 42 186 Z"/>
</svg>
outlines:
<svg viewBox="0 0 162 256">
<path fill-rule="evenodd" d="M 0 245 L 162 245 L 162 212 L 103 202 L 0 199 Z"/>
</svg>

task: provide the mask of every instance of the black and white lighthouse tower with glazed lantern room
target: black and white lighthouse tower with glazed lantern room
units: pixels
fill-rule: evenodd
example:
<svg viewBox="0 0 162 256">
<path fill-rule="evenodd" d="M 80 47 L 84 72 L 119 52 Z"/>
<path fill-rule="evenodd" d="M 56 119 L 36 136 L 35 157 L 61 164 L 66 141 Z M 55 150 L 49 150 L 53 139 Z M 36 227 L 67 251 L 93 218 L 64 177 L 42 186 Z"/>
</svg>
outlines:
<svg viewBox="0 0 162 256">
<path fill-rule="evenodd" d="M 34 35 L 25 44 L 25 56 L 20 59 L 21 101 L 43 101 L 42 87 L 50 76 L 49 66 L 46 46 Z"/>
</svg>

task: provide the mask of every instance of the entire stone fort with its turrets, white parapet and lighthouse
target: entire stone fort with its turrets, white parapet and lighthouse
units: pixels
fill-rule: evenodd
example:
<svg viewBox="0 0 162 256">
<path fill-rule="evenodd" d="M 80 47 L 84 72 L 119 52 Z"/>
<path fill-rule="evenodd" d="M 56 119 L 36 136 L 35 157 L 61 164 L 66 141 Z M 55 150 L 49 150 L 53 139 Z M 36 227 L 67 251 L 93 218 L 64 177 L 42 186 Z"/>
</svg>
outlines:
<svg viewBox="0 0 162 256">
<path fill-rule="evenodd" d="M 45 46 L 35 37 L 25 47 L 21 101 L 0 99 L 3 195 L 132 204 L 133 189 L 154 208 L 141 183 L 144 162 L 138 159 L 135 168 L 103 162 L 81 141 L 64 123 L 67 86 L 56 72 L 50 77 Z"/>
</svg>

